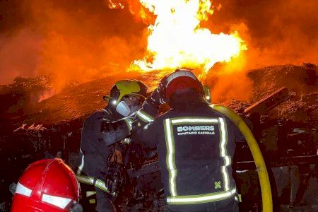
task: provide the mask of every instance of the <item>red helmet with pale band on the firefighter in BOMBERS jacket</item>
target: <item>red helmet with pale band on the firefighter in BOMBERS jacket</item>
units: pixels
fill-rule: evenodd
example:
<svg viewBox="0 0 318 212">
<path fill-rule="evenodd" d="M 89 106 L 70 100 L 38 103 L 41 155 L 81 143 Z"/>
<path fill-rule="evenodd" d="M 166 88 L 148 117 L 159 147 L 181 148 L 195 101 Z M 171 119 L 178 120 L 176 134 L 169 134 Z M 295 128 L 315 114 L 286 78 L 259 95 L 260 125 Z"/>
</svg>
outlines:
<svg viewBox="0 0 318 212">
<path fill-rule="evenodd" d="M 203 95 L 202 84 L 196 75 L 187 69 L 177 69 L 165 80 L 165 97 L 169 100 L 172 93 L 186 88 L 193 88 L 197 93 Z"/>
</svg>

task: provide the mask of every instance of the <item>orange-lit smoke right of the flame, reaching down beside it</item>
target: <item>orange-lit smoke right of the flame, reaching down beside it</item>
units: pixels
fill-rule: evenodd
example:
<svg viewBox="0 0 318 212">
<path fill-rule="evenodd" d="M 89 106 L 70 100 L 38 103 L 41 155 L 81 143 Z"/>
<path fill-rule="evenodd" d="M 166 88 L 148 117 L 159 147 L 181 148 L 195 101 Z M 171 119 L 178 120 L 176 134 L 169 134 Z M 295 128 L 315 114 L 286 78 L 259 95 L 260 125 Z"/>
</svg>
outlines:
<svg viewBox="0 0 318 212">
<path fill-rule="evenodd" d="M 252 83 L 245 75 L 249 69 L 318 64 L 318 1 L 214 0 L 213 5 L 213 16 L 203 25 L 213 33 L 237 31 L 248 47 L 230 63 L 210 70 L 206 83 L 216 102 L 250 100 Z"/>
</svg>

